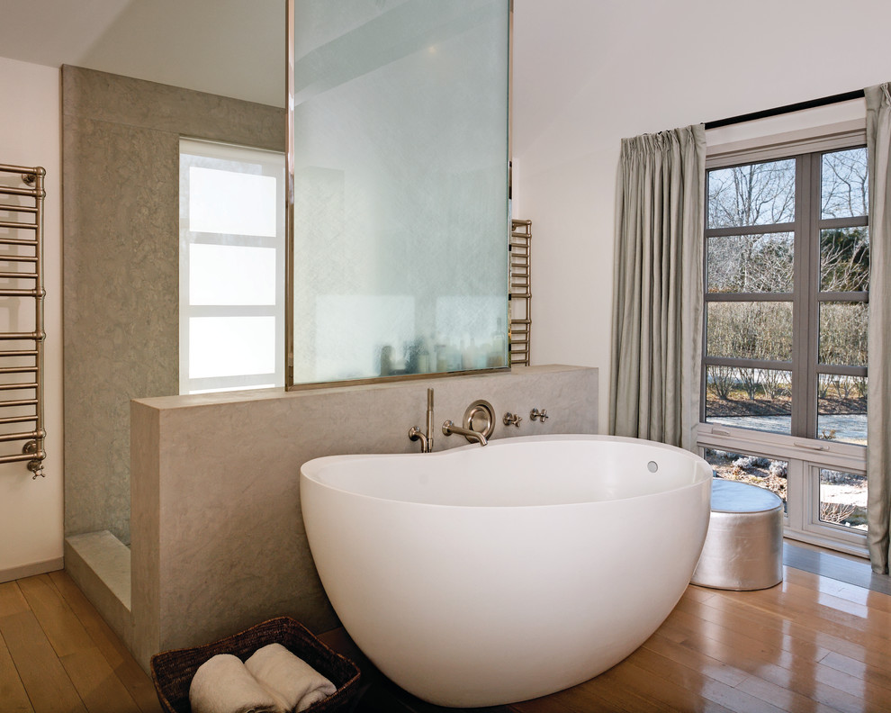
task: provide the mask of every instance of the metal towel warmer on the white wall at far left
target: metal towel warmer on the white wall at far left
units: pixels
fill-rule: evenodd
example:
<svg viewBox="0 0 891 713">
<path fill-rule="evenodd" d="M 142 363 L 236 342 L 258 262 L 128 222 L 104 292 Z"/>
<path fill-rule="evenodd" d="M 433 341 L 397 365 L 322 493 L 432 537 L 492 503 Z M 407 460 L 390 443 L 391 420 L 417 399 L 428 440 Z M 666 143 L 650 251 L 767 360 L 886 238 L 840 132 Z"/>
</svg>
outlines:
<svg viewBox="0 0 891 713">
<path fill-rule="evenodd" d="M 12 331 L 19 304 L 9 307 L 9 331 L 0 331 L 0 444 L 25 441 L 21 452 L 0 455 L 0 464 L 26 462 L 43 477 L 43 188 L 42 167 L 0 164 L 4 174 L 19 176 L 24 185 L 0 181 L 0 297 L 33 299 L 34 329 Z M 14 181 L 18 184 L 19 181 Z M 19 269 L 16 269 L 18 267 Z M 8 398 L 7 398 L 8 396 Z M 7 411 L 8 410 L 8 411 Z M 27 425 L 32 428 L 28 429 Z M 8 432 L 7 432 L 8 431 Z"/>
</svg>

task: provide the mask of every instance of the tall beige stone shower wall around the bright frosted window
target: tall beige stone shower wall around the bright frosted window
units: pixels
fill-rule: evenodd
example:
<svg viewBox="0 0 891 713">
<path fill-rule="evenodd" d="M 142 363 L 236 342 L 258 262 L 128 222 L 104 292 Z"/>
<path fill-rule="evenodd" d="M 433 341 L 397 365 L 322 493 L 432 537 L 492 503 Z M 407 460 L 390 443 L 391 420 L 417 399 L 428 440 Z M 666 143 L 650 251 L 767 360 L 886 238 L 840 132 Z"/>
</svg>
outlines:
<svg viewBox="0 0 891 713">
<path fill-rule="evenodd" d="M 179 393 L 179 140 L 284 151 L 286 115 L 65 66 L 62 122 L 65 535 L 128 544 L 130 399 Z"/>
</svg>

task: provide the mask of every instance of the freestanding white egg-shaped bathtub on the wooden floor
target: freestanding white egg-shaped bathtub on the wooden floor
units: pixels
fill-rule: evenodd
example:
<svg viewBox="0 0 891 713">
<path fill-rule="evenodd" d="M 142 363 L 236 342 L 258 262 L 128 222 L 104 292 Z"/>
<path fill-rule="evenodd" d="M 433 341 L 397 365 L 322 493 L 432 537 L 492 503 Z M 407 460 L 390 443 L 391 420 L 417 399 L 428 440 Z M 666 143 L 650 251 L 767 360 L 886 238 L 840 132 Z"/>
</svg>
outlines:
<svg viewBox="0 0 891 713">
<path fill-rule="evenodd" d="M 634 438 L 505 438 L 301 468 L 303 520 L 347 632 L 421 699 L 535 698 L 662 624 L 706 537 L 712 471 Z"/>
</svg>

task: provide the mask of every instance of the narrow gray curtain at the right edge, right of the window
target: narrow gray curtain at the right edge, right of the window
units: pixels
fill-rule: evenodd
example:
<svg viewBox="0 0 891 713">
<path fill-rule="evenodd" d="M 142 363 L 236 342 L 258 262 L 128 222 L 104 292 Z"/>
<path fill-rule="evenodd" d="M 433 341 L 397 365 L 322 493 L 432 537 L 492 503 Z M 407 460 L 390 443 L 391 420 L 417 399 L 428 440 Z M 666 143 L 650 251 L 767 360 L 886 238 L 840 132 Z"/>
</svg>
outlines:
<svg viewBox="0 0 891 713">
<path fill-rule="evenodd" d="M 869 385 L 867 401 L 867 524 L 873 571 L 888 573 L 891 519 L 891 95 L 870 86 L 869 153 Z"/>
</svg>

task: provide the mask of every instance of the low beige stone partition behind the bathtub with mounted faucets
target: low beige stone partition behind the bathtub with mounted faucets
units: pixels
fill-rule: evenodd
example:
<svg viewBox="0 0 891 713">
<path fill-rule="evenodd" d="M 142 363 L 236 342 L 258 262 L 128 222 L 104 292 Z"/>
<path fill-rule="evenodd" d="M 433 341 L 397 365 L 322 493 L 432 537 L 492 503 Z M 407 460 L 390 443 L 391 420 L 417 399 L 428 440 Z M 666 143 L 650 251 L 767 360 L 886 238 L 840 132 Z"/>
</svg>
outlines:
<svg viewBox="0 0 891 713">
<path fill-rule="evenodd" d="M 491 375 L 284 393 L 264 390 L 131 402 L 132 648 L 208 643 L 279 615 L 338 626 L 312 563 L 300 466 L 339 454 L 410 453 L 435 389 L 435 451 L 472 402 L 491 402 L 493 438 L 596 433 L 597 369 L 514 367 Z M 543 424 L 529 419 L 546 409 Z M 523 417 L 504 426 L 506 411 Z M 410 536 L 410 533 L 407 533 Z"/>
</svg>

